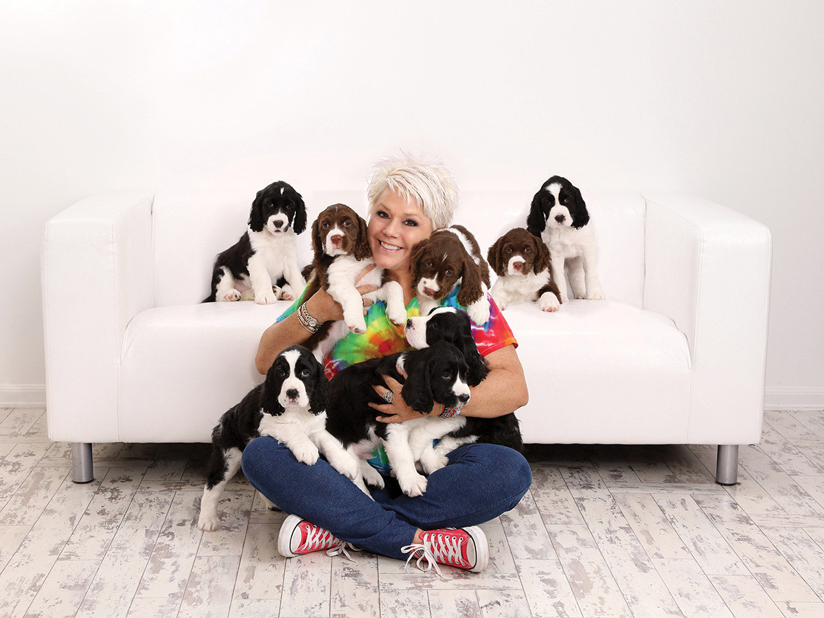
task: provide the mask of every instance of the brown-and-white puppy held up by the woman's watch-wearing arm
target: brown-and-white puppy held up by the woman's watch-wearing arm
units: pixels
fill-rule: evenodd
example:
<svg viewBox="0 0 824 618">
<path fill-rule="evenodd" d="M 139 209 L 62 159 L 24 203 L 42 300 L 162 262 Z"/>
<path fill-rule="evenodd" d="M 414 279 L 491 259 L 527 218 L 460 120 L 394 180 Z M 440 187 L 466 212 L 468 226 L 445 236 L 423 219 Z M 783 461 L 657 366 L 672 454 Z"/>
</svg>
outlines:
<svg viewBox="0 0 824 618">
<path fill-rule="evenodd" d="M 343 321 L 327 322 L 304 343 L 323 362 L 326 354 L 351 330 L 366 332 L 363 318 L 363 297 L 355 286 L 355 277 L 372 264 L 366 222 L 352 208 L 332 204 L 326 208 L 311 227 L 311 245 L 315 251 L 312 275 L 306 298 L 324 288 L 344 309 Z M 406 321 L 404 291 L 400 283 L 391 281 L 381 268 L 374 268 L 358 285 L 377 285 L 377 292 L 366 297 L 386 301 L 386 316 L 397 325 Z"/>
</svg>

